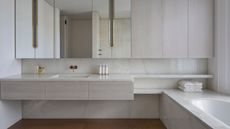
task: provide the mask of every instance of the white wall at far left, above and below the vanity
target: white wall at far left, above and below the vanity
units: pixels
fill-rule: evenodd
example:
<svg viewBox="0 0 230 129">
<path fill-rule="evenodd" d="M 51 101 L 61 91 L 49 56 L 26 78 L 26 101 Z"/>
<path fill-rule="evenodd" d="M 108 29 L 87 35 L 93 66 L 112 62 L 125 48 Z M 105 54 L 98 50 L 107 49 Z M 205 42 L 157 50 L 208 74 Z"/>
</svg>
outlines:
<svg viewBox="0 0 230 129">
<path fill-rule="evenodd" d="M 21 62 L 14 59 L 14 0 L 0 0 L 0 78 L 21 72 Z M 21 103 L 0 101 L 0 129 L 21 119 Z"/>
</svg>

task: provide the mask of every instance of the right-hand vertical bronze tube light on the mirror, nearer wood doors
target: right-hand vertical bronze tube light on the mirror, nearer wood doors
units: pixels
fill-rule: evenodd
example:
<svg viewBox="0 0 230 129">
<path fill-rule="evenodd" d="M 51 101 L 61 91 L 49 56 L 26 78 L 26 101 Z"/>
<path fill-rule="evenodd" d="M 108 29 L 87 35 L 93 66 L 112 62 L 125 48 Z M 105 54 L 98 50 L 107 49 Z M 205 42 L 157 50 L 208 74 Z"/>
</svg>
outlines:
<svg viewBox="0 0 230 129">
<path fill-rule="evenodd" d="M 109 0 L 109 42 L 110 47 L 114 46 L 114 37 L 113 37 L 113 20 L 114 20 L 114 0 Z"/>
</svg>

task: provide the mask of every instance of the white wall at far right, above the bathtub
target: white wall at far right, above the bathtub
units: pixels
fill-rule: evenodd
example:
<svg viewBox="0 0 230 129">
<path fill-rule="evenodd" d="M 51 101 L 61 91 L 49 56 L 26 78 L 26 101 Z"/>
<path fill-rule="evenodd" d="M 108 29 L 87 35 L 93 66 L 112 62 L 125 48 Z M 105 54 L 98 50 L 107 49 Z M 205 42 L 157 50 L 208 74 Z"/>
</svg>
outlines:
<svg viewBox="0 0 230 129">
<path fill-rule="evenodd" d="M 215 58 L 209 60 L 209 81 L 213 90 L 230 94 L 230 1 L 216 0 Z"/>
</svg>

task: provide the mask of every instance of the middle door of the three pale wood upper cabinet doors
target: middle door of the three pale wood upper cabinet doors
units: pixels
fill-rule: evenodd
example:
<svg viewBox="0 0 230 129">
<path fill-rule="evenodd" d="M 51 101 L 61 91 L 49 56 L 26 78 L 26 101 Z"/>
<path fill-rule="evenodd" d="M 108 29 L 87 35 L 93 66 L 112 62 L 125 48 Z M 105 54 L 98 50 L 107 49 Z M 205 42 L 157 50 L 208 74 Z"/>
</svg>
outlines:
<svg viewBox="0 0 230 129">
<path fill-rule="evenodd" d="M 163 0 L 164 58 L 188 57 L 189 0 Z"/>
</svg>

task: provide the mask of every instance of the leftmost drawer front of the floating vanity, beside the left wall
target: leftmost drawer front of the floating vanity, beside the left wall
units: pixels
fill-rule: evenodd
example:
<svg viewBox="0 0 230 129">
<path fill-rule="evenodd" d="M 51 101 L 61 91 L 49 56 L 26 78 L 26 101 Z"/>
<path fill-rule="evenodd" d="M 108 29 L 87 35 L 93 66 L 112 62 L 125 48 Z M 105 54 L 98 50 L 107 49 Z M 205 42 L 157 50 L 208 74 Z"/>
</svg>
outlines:
<svg viewBox="0 0 230 129">
<path fill-rule="evenodd" d="M 41 82 L 1 82 L 1 99 L 41 100 L 45 97 Z"/>
</svg>

